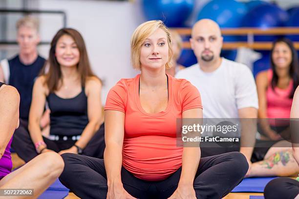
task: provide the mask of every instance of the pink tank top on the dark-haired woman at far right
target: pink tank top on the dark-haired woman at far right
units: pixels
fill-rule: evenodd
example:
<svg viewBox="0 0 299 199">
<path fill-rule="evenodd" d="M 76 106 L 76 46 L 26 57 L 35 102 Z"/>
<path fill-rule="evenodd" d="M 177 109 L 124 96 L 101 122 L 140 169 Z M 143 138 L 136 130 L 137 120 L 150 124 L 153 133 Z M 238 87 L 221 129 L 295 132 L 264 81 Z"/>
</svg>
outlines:
<svg viewBox="0 0 299 199">
<path fill-rule="evenodd" d="M 268 70 L 268 88 L 266 91 L 267 97 L 267 117 L 268 118 L 290 118 L 291 107 L 293 99 L 290 99 L 290 93 L 293 89 L 293 80 L 290 81 L 286 89 L 275 87 L 272 89 L 271 80 L 273 77 L 273 71 Z M 284 123 L 282 120 L 269 120 L 271 125 L 280 126 Z"/>
</svg>

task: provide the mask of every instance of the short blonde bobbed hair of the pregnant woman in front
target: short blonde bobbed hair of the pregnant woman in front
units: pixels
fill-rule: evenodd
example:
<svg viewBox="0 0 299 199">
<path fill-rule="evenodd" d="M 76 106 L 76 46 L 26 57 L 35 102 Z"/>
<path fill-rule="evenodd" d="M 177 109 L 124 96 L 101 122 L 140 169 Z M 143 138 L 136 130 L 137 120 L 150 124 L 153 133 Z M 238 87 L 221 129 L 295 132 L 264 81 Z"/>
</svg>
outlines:
<svg viewBox="0 0 299 199">
<path fill-rule="evenodd" d="M 158 28 L 161 28 L 167 35 L 169 46 L 169 58 L 165 65 L 166 69 L 171 68 L 171 36 L 168 28 L 161 20 L 150 20 L 139 25 L 131 37 L 131 63 L 133 68 L 141 70 L 140 50 L 144 41 L 149 38 Z"/>
</svg>

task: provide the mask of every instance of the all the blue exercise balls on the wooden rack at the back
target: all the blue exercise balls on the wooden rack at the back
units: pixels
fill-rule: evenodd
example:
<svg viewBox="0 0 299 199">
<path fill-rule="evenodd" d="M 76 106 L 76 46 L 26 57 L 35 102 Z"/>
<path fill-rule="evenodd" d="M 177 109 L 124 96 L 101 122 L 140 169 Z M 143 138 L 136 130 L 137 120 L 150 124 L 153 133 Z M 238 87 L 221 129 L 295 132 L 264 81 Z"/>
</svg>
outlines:
<svg viewBox="0 0 299 199">
<path fill-rule="evenodd" d="M 163 20 L 169 27 L 186 27 L 196 0 L 142 0 L 146 20 Z M 268 29 L 273 27 L 299 27 L 299 6 L 285 11 L 275 3 L 265 0 L 210 0 L 198 11 L 197 20 L 212 19 L 220 28 L 253 27 Z M 195 22 L 195 21 L 194 21 Z M 282 36 L 281 36 L 282 37 Z M 299 36 L 288 36 L 299 41 Z M 278 36 L 255 36 L 255 41 L 274 41 Z M 190 37 L 183 37 L 189 41 Z M 246 41 L 247 37 L 225 36 L 224 42 Z M 263 58 L 254 64 L 254 73 L 270 67 L 269 51 L 259 51 Z M 221 56 L 235 60 L 236 50 L 224 50 Z M 183 49 L 178 62 L 184 66 L 196 63 L 191 49 Z"/>
</svg>

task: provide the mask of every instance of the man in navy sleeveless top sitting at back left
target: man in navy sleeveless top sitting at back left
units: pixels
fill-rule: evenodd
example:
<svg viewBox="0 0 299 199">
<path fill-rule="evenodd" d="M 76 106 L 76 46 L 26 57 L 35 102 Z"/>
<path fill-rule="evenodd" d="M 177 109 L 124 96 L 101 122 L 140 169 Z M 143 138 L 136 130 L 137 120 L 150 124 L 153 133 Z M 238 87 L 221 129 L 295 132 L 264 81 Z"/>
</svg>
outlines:
<svg viewBox="0 0 299 199">
<path fill-rule="evenodd" d="M 18 135 L 28 129 L 33 84 L 43 68 L 45 59 L 39 56 L 37 51 L 40 42 L 38 20 L 29 16 L 21 18 L 17 21 L 16 28 L 20 51 L 12 59 L 0 62 L 0 81 L 14 86 L 20 93 L 20 127 L 16 130 L 12 142 L 12 147 L 20 156 L 26 152 L 19 148 L 21 138 Z M 40 123 L 44 132 L 48 131 L 48 118 L 49 112 L 46 111 Z"/>
</svg>

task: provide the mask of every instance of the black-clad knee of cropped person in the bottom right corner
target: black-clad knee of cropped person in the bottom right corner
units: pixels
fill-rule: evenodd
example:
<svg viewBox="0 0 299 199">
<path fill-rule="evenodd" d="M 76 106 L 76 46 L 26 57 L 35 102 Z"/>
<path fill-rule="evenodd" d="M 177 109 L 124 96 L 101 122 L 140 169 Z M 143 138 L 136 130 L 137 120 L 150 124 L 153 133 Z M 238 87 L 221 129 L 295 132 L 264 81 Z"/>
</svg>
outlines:
<svg viewBox="0 0 299 199">
<path fill-rule="evenodd" d="M 299 195 L 299 181 L 290 178 L 272 179 L 265 187 L 265 199 L 295 199 Z"/>
</svg>

